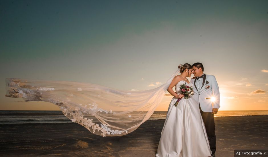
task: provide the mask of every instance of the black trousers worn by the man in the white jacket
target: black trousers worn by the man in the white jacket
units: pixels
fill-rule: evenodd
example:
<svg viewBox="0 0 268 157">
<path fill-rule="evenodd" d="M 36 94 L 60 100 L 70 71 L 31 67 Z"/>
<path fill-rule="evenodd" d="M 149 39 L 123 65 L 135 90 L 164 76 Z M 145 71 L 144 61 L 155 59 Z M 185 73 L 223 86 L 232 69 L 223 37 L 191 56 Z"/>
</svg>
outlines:
<svg viewBox="0 0 268 157">
<path fill-rule="evenodd" d="M 204 112 L 204 111 L 202 111 L 201 107 L 200 107 L 200 104 L 199 104 L 199 109 L 200 109 L 202 119 L 203 119 L 203 121 L 205 123 L 210 150 L 211 150 L 212 153 L 215 154 L 215 152 L 216 152 L 216 135 L 215 135 L 214 114 L 211 114 L 212 112 Z"/>
</svg>

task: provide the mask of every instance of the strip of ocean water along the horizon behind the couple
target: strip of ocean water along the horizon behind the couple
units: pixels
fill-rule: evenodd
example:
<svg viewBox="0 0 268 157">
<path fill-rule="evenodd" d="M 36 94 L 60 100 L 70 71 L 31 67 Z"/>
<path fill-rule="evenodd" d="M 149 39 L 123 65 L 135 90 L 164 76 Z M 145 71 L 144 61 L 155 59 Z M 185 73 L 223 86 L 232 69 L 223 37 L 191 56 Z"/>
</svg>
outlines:
<svg viewBox="0 0 268 157">
<path fill-rule="evenodd" d="M 155 111 L 149 119 L 165 119 L 167 111 Z M 221 111 L 214 116 L 268 115 L 268 110 Z M 0 124 L 72 123 L 61 111 L 0 110 Z"/>
</svg>

